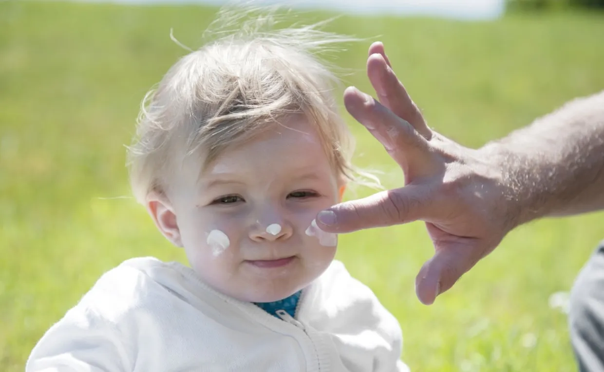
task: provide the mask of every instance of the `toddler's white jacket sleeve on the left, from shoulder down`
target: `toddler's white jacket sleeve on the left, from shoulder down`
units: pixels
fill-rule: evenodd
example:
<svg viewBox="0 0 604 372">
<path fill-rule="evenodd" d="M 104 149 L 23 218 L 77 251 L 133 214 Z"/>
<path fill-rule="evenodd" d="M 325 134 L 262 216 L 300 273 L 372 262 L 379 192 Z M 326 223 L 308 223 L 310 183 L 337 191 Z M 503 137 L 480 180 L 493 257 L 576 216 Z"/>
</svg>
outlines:
<svg viewBox="0 0 604 372">
<path fill-rule="evenodd" d="M 37 342 L 25 372 L 132 371 L 140 314 L 135 311 L 140 274 L 114 268 Z"/>
</svg>

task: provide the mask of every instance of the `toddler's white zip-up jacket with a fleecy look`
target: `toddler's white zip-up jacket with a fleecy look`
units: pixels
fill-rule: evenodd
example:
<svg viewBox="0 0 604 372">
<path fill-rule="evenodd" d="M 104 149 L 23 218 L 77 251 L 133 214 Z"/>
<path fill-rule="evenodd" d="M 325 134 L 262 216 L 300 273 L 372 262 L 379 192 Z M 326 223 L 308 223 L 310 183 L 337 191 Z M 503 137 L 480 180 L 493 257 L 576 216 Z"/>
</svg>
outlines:
<svg viewBox="0 0 604 372">
<path fill-rule="evenodd" d="M 295 318 L 205 285 L 180 263 L 135 258 L 105 273 L 42 336 L 26 372 L 400 372 L 396 318 L 333 261 Z"/>
</svg>

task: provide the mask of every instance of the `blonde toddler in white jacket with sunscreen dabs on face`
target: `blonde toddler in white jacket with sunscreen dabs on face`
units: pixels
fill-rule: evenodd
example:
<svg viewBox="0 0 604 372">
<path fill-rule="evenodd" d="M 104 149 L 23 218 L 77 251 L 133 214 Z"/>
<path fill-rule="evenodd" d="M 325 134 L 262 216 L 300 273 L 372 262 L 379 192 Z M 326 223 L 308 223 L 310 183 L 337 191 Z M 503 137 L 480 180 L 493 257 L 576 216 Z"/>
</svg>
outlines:
<svg viewBox="0 0 604 372">
<path fill-rule="evenodd" d="M 316 213 L 355 180 L 316 58 L 341 37 L 244 22 L 169 69 L 128 150 L 133 194 L 190 266 L 126 260 L 31 352 L 33 371 L 407 371 L 399 323 Z"/>
</svg>

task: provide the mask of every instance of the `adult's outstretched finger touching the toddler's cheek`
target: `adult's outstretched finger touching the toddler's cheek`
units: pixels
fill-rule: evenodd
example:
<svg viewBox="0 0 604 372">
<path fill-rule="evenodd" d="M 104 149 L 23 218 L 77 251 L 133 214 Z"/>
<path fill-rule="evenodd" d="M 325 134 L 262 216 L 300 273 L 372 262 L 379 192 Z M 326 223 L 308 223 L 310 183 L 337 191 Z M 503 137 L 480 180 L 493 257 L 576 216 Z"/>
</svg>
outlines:
<svg viewBox="0 0 604 372">
<path fill-rule="evenodd" d="M 359 200 L 336 204 L 316 216 L 321 230 L 349 233 L 372 227 L 405 224 L 430 215 L 431 198 L 425 185 L 408 185 Z"/>
</svg>

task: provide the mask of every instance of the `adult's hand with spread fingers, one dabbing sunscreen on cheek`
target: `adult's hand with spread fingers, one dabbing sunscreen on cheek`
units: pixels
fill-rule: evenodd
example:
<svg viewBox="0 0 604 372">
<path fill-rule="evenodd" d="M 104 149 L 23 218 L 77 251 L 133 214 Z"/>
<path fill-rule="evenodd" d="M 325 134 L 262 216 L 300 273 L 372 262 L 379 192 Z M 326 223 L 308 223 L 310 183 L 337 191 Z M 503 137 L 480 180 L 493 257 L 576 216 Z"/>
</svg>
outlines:
<svg viewBox="0 0 604 372">
<path fill-rule="evenodd" d="M 318 225 L 347 233 L 425 221 L 435 253 L 416 277 L 416 292 L 431 304 L 500 244 L 518 211 L 486 148 L 462 147 L 426 125 L 382 43 L 369 49 L 367 75 L 377 99 L 349 87 L 345 107 L 402 168 L 405 186 L 333 206 L 318 214 Z"/>
</svg>

